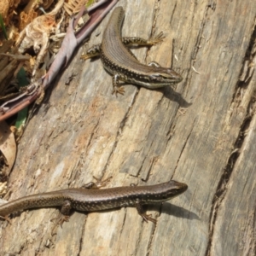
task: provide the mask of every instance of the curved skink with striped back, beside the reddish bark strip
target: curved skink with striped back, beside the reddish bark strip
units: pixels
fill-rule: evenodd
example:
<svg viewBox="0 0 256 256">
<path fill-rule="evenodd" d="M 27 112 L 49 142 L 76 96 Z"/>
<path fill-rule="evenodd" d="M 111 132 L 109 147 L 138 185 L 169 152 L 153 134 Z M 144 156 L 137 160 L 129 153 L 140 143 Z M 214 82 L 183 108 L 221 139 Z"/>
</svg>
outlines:
<svg viewBox="0 0 256 256">
<path fill-rule="evenodd" d="M 125 90 L 119 85 L 119 80 L 144 86 L 148 89 L 160 88 L 177 84 L 182 77 L 169 67 L 160 67 L 156 62 L 143 65 L 131 53 L 127 45 L 154 45 L 162 41 L 163 34 L 145 40 L 143 38 L 122 38 L 121 26 L 125 17 L 122 7 L 113 10 L 108 25 L 103 33 L 102 44 L 91 47 L 81 57 L 85 60 L 100 55 L 103 67 L 113 74 L 113 93 L 124 94 Z"/>
</svg>

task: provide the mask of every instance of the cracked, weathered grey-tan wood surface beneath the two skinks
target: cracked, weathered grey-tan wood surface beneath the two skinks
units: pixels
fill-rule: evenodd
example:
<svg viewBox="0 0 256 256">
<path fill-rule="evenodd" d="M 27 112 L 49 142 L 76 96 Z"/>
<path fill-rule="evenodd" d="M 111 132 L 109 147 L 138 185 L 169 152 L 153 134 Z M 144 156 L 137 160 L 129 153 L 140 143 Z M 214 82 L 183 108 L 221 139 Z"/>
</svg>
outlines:
<svg viewBox="0 0 256 256">
<path fill-rule="evenodd" d="M 112 175 L 109 186 L 172 178 L 189 189 L 150 209 L 155 226 L 134 208 L 75 212 L 55 230 L 56 209 L 23 212 L 0 224 L 1 255 L 254 255 L 256 2 L 119 5 L 123 35 L 166 34 L 162 44 L 134 50 L 138 59 L 172 64 L 183 82 L 162 90 L 125 85 L 116 98 L 101 61 L 79 60 L 79 49 L 26 128 L 8 200 L 80 187 L 93 175 Z M 88 47 L 101 42 L 108 18 Z"/>
</svg>

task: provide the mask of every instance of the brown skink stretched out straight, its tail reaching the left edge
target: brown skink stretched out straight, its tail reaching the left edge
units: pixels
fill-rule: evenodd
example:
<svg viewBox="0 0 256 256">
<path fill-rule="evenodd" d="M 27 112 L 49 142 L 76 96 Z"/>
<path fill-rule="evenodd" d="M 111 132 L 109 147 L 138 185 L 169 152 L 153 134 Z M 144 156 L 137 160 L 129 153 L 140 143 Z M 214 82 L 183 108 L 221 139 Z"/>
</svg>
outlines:
<svg viewBox="0 0 256 256">
<path fill-rule="evenodd" d="M 102 184 L 99 185 L 99 183 L 88 183 L 82 189 L 62 189 L 27 195 L 0 206 L 0 216 L 9 220 L 8 216 L 12 212 L 41 207 L 61 207 L 60 222 L 62 224 L 67 221 L 72 209 L 82 212 L 94 212 L 118 207 L 137 207 L 137 212 L 144 220 L 155 223 L 154 218 L 143 212 L 143 205 L 168 201 L 182 194 L 188 188 L 185 183 L 171 180 L 167 183 L 149 186 L 90 189 L 101 186 Z"/>
</svg>

